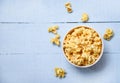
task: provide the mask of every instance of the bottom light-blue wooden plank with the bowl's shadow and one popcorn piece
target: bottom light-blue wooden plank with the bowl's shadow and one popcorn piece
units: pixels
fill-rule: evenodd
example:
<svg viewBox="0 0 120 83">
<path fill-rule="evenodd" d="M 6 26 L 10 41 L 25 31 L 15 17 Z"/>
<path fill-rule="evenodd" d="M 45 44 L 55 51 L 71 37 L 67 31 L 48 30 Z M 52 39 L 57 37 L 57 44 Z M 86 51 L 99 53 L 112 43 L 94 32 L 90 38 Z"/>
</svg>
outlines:
<svg viewBox="0 0 120 83">
<path fill-rule="evenodd" d="M 104 54 L 93 67 L 79 69 L 70 65 L 60 54 L 0 56 L 1 83 L 46 83 L 46 82 L 119 82 L 119 54 Z M 54 76 L 54 68 L 62 67 L 67 75 L 64 79 Z M 86 80 L 87 79 L 87 80 Z"/>
</svg>

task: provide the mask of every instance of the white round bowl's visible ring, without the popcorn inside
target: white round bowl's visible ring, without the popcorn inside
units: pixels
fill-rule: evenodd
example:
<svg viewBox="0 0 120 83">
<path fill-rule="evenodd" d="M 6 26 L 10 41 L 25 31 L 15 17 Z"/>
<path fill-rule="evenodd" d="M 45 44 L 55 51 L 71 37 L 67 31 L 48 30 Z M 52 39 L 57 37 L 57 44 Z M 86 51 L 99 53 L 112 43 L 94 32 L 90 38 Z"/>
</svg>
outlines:
<svg viewBox="0 0 120 83">
<path fill-rule="evenodd" d="M 79 67 L 79 68 L 88 68 L 88 67 L 91 67 L 91 66 L 95 65 L 95 64 L 100 60 L 100 58 L 101 58 L 102 55 L 103 55 L 103 50 L 104 50 L 103 39 L 102 39 L 102 37 L 100 36 L 100 34 L 99 34 L 97 31 L 96 31 L 96 32 L 97 32 L 97 34 L 99 35 L 99 37 L 100 37 L 100 39 L 101 39 L 101 41 L 102 41 L 102 49 L 101 49 L 101 53 L 100 53 L 99 57 L 97 58 L 97 60 L 96 60 L 94 63 L 90 64 L 90 65 L 79 66 L 79 65 L 76 65 L 76 64 L 72 63 L 72 62 L 67 58 L 67 56 L 66 56 L 66 54 L 65 54 L 65 51 L 64 51 L 64 47 L 63 47 L 64 40 L 65 40 L 66 36 L 67 36 L 69 33 L 71 33 L 74 29 L 80 28 L 80 27 L 86 27 L 86 28 L 90 28 L 90 29 L 96 31 L 95 29 L 93 29 L 93 28 L 91 28 L 91 27 L 88 27 L 88 26 L 76 26 L 76 27 L 74 27 L 73 29 L 69 30 L 69 31 L 66 33 L 66 35 L 65 35 L 65 37 L 64 37 L 64 39 L 63 39 L 63 43 L 62 43 L 62 50 L 63 50 L 63 53 L 64 53 L 64 56 L 65 56 L 66 60 L 67 60 L 70 64 L 72 64 L 72 65 L 75 66 L 75 67 Z"/>
</svg>

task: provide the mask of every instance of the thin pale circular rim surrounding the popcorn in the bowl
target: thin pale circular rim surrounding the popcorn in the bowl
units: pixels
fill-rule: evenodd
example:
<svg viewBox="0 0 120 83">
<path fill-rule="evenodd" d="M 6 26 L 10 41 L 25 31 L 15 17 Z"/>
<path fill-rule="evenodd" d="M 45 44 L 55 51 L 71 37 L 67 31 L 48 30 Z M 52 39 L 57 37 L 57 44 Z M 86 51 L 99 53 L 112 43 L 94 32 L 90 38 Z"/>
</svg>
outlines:
<svg viewBox="0 0 120 83">
<path fill-rule="evenodd" d="M 66 58 L 67 62 L 69 62 L 71 65 L 73 65 L 73 66 L 75 66 L 75 67 L 78 67 L 78 68 L 88 68 L 88 67 L 91 67 L 91 66 L 95 65 L 96 63 L 98 63 L 99 60 L 101 59 L 102 55 L 103 55 L 103 50 L 104 50 L 103 38 L 101 37 L 101 35 L 100 35 L 97 31 L 96 31 L 96 32 L 97 32 L 97 34 L 99 35 L 99 37 L 100 37 L 100 39 L 101 39 L 101 41 L 102 41 L 102 50 L 101 50 L 100 56 L 98 57 L 98 59 L 97 59 L 93 64 L 91 64 L 91 65 L 86 65 L 86 66 L 78 66 L 78 65 L 75 65 L 74 63 L 72 63 L 72 62 L 70 62 L 70 61 L 68 60 L 68 58 L 66 57 L 66 54 L 65 54 L 65 52 L 64 52 L 64 49 L 63 49 L 63 43 L 64 43 L 64 40 L 65 40 L 67 34 L 70 33 L 71 31 L 73 31 L 74 29 L 77 29 L 77 28 L 80 28 L 80 27 L 86 27 L 86 28 L 90 28 L 90 29 L 93 29 L 94 31 L 96 31 L 94 28 L 91 28 L 91 27 L 86 26 L 86 25 L 82 25 L 82 26 L 79 25 L 79 26 L 75 26 L 75 27 L 71 28 L 70 30 L 67 31 L 67 33 L 66 33 L 65 36 L 63 37 L 63 40 L 62 40 L 62 52 L 63 52 L 63 55 L 64 55 L 64 57 Z"/>
</svg>

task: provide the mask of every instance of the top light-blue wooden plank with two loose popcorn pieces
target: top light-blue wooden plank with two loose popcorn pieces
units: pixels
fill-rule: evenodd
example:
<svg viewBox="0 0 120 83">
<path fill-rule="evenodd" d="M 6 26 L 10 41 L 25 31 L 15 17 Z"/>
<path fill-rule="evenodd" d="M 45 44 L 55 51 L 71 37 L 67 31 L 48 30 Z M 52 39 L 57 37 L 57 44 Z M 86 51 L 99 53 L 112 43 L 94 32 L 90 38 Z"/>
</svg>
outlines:
<svg viewBox="0 0 120 83">
<path fill-rule="evenodd" d="M 4 0 L 0 1 L 0 21 L 80 22 L 86 12 L 93 21 L 120 21 L 120 0 L 69 0 L 73 13 L 68 14 L 64 4 L 68 0 Z"/>
</svg>

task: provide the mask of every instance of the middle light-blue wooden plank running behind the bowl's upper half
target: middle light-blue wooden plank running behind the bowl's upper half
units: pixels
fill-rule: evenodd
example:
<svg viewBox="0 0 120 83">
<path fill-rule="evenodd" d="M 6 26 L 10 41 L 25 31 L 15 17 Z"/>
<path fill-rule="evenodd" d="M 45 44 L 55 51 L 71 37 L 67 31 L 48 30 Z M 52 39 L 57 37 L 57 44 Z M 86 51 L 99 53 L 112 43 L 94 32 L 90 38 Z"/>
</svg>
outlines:
<svg viewBox="0 0 120 83">
<path fill-rule="evenodd" d="M 58 33 L 61 35 L 61 41 L 65 34 L 73 27 L 86 25 L 96 29 L 103 36 L 106 28 L 112 28 L 115 35 L 110 41 L 104 40 L 105 53 L 120 53 L 120 24 L 118 23 L 96 23 L 96 24 L 1 24 L 0 25 L 0 53 L 60 53 L 61 47 L 50 43 L 54 37 L 48 33 L 49 26 L 59 25 Z M 117 40 L 117 41 L 116 41 Z"/>
</svg>

